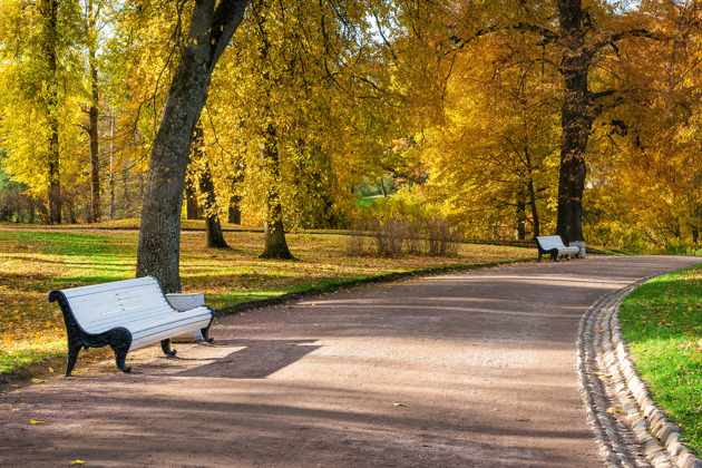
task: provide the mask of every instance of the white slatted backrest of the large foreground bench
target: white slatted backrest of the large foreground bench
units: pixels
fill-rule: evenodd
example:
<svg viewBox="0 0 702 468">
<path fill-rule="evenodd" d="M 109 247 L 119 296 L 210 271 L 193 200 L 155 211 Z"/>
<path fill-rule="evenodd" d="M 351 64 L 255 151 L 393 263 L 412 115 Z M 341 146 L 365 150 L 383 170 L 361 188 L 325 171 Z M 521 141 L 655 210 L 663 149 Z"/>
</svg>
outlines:
<svg viewBox="0 0 702 468">
<path fill-rule="evenodd" d="M 134 320 L 173 313 L 153 276 L 61 290 L 74 316 L 88 333 L 100 333 Z"/>
</svg>

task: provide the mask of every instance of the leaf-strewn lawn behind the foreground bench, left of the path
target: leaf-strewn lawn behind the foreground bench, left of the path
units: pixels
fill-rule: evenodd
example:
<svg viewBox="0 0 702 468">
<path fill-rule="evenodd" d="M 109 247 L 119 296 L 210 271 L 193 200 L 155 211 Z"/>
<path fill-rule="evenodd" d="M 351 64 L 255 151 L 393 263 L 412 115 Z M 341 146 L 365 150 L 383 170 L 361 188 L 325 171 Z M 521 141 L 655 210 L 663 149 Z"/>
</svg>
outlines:
<svg viewBox="0 0 702 468">
<path fill-rule="evenodd" d="M 134 277 L 138 232 L 8 226 L 0 230 L 0 374 L 17 374 L 66 354 L 61 312 L 48 293 Z M 227 231 L 225 238 L 231 248 L 207 248 L 203 231 L 181 237 L 183 291 L 205 293 L 215 310 L 388 274 L 534 257 L 533 250 L 468 244 L 454 257 L 348 256 L 348 236 L 300 233 L 287 236 L 296 260 L 276 261 L 259 259 L 263 233 Z"/>
</svg>

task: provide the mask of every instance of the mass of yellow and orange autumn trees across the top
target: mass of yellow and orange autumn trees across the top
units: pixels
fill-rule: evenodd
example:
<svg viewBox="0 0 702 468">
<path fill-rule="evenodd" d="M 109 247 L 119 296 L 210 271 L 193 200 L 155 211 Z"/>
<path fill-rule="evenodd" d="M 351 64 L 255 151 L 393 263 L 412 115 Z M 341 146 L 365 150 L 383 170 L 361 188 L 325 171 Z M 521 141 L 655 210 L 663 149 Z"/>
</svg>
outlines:
<svg viewBox="0 0 702 468">
<path fill-rule="evenodd" d="M 389 178 L 468 238 L 699 242 L 698 2 L 0 9 L 2 169 L 30 217 L 140 216 L 137 274 L 167 290 L 186 184 L 213 223 L 265 226 L 264 256 Z"/>
</svg>

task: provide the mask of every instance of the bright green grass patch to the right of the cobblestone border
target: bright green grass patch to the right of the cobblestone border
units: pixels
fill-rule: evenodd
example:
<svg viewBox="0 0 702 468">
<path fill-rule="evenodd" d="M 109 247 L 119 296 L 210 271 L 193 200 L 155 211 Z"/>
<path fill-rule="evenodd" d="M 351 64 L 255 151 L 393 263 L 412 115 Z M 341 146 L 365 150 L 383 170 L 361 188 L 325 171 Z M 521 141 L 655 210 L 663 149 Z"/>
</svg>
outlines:
<svg viewBox="0 0 702 468">
<path fill-rule="evenodd" d="M 654 401 L 702 454 L 702 267 L 656 277 L 621 305 L 624 338 Z"/>
</svg>

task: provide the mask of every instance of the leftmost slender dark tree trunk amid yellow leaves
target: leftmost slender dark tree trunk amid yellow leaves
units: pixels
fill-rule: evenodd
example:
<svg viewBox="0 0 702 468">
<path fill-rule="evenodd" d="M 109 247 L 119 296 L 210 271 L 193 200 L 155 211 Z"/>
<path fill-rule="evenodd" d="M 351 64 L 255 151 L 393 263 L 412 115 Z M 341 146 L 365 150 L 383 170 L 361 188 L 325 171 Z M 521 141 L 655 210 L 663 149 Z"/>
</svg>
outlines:
<svg viewBox="0 0 702 468">
<path fill-rule="evenodd" d="M 41 3 L 45 31 L 45 53 L 49 82 L 47 84 L 47 111 L 49 121 L 48 181 L 49 223 L 61 224 L 61 178 L 59 172 L 59 121 L 58 121 L 58 0 Z"/>
</svg>

